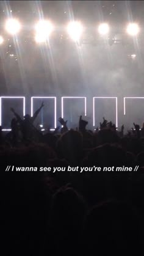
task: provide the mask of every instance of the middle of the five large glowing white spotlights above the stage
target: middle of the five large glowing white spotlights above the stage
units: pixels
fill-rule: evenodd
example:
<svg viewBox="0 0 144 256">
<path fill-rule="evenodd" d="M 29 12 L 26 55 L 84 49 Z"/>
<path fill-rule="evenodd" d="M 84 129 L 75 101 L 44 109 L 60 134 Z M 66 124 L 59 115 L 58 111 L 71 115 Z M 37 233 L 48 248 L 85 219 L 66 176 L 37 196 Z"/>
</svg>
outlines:
<svg viewBox="0 0 144 256">
<path fill-rule="evenodd" d="M 67 27 L 68 34 L 70 35 L 71 39 L 75 42 L 78 42 L 81 38 L 83 27 L 79 21 L 73 21 L 68 24 Z"/>
</svg>

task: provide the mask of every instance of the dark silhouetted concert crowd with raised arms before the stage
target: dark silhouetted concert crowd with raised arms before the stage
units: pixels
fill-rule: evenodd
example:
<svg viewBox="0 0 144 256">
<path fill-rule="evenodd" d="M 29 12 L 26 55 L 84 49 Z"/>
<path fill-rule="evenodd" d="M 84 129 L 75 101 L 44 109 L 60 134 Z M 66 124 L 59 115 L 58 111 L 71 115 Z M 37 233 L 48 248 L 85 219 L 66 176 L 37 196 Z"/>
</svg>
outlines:
<svg viewBox="0 0 144 256">
<path fill-rule="evenodd" d="M 143 255 L 144 125 L 124 134 L 103 118 L 95 131 L 59 118 L 36 128 L 40 108 L 0 131 L 2 255 Z M 68 172 L 71 167 L 132 167 L 137 172 Z M 7 166 L 65 167 L 65 172 L 5 172 Z M 3 248 L 3 249 L 2 249 Z"/>
</svg>

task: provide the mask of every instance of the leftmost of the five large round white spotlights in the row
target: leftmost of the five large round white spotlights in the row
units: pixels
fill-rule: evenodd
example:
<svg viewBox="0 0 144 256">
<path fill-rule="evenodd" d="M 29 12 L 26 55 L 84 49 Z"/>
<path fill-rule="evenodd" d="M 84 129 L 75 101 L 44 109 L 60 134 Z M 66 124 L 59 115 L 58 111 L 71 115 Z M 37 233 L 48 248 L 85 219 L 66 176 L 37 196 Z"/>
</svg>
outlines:
<svg viewBox="0 0 144 256">
<path fill-rule="evenodd" d="M 6 21 L 5 29 L 9 34 L 14 35 L 21 29 L 20 22 L 16 19 L 9 19 Z"/>
</svg>

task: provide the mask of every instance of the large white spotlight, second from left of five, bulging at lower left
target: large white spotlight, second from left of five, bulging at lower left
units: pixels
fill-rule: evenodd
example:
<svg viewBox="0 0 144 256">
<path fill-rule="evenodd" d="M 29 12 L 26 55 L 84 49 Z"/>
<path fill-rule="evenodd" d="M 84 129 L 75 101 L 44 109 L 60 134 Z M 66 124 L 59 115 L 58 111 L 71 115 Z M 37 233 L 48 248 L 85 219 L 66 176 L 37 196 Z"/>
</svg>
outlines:
<svg viewBox="0 0 144 256">
<path fill-rule="evenodd" d="M 47 20 L 38 21 L 38 23 L 35 26 L 35 31 L 36 31 L 35 41 L 37 43 L 46 42 L 46 40 L 48 39 L 53 29 L 54 27 L 52 26 L 50 21 L 47 21 Z"/>
</svg>

